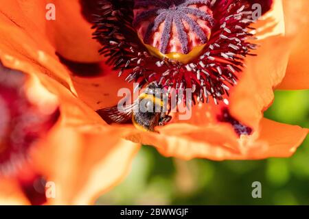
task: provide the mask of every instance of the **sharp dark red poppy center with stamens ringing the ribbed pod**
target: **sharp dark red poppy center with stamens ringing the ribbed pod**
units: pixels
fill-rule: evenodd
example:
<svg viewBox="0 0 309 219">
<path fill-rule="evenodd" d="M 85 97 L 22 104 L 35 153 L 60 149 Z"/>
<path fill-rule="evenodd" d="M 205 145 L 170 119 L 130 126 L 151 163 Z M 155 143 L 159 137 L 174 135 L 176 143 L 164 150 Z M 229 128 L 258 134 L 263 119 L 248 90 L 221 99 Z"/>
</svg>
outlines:
<svg viewBox="0 0 309 219">
<path fill-rule="evenodd" d="M 189 99 L 185 95 L 178 99 L 185 105 L 210 101 L 229 105 L 229 92 L 238 83 L 244 59 L 256 49 L 249 42 L 254 39 L 255 3 L 262 5 L 263 14 L 272 1 L 102 0 L 93 36 L 102 44 L 99 52 L 106 63 L 119 77 L 126 75 L 126 81 L 138 82 L 140 88 L 156 82 L 178 94 L 190 88 Z M 201 50 L 192 53 L 199 46 Z M 189 58 L 169 56 L 173 52 Z M 251 133 L 225 115 L 219 121 L 231 123 L 238 134 Z"/>
</svg>

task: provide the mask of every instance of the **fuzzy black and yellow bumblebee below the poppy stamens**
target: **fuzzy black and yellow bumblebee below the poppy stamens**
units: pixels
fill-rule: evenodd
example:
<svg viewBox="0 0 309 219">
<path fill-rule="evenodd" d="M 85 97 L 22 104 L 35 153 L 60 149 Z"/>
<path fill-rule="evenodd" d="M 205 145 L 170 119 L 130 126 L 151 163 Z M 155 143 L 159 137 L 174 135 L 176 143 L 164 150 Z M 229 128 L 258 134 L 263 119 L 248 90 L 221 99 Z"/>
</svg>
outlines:
<svg viewBox="0 0 309 219">
<path fill-rule="evenodd" d="M 155 127 L 170 122 L 168 95 L 157 83 L 150 83 L 131 105 L 113 106 L 98 110 L 106 123 L 133 123 L 142 131 L 155 131 Z"/>
</svg>

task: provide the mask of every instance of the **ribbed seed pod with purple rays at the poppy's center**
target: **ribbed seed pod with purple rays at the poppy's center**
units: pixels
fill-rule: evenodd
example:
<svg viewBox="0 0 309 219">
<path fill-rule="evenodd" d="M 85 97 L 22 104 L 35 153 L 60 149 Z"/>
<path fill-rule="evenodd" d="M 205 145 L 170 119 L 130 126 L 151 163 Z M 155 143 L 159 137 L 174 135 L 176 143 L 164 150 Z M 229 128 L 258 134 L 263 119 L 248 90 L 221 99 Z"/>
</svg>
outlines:
<svg viewBox="0 0 309 219">
<path fill-rule="evenodd" d="M 208 4 L 208 0 L 135 0 L 133 27 L 152 55 L 187 63 L 209 40 L 214 18 Z"/>
</svg>

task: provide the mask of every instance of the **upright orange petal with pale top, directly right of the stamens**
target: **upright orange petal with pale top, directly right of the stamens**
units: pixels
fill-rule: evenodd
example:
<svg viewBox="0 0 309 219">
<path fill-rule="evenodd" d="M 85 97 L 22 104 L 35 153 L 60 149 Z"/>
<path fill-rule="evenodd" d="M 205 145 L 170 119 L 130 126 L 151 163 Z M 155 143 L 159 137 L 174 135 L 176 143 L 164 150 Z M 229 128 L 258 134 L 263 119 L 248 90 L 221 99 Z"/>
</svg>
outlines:
<svg viewBox="0 0 309 219">
<path fill-rule="evenodd" d="M 273 10 L 264 18 L 275 26 L 263 25 L 268 29 L 265 34 L 258 33 L 256 43 L 260 47 L 254 51 L 255 57 L 247 57 L 238 85 L 231 90 L 231 115 L 244 125 L 258 129 L 262 112 L 273 101 L 273 88 L 284 78 L 288 64 L 290 43 L 284 37 L 284 21 L 281 1 L 275 1 Z M 265 23 L 258 21 L 257 25 Z M 257 31 L 264 31 L 258 26 Z"/>
</svg>

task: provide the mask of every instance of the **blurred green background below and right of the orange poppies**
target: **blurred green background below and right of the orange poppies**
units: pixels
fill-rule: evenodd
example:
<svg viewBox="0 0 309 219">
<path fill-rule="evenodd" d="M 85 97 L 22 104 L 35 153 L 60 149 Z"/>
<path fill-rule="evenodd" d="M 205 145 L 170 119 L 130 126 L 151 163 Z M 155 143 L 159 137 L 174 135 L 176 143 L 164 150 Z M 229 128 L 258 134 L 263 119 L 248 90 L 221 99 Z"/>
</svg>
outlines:
<svg viewBox="0 0 309 219">
<path fill-rule="evenodd" d="M 309 128 L 309 90 L 276 91 L 266 118 Z M 252 198 L 253 181 L 262 198 Z M 309 138 L 293 157 L 184 162 L 143 146 L 126 180 L 98 205 L 309 205 Z"/>
</svg>

